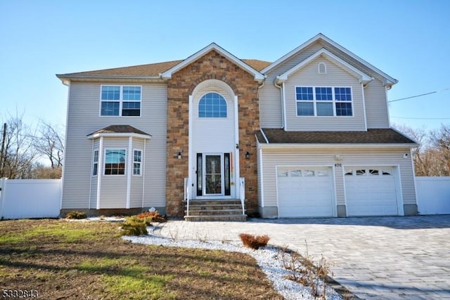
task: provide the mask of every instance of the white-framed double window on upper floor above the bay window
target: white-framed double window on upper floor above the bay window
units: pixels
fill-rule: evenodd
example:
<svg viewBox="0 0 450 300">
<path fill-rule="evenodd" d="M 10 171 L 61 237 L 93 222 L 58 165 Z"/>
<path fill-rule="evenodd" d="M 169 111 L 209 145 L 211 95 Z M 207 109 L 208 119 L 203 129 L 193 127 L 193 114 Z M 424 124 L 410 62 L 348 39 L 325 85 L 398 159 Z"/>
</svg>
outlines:
<svg viewBox="0 0 450 300">
<path fill-rule="evenodd" d="M 140 116 L 141 86 L 101 86 L 101 116 Z"/>
</svg>

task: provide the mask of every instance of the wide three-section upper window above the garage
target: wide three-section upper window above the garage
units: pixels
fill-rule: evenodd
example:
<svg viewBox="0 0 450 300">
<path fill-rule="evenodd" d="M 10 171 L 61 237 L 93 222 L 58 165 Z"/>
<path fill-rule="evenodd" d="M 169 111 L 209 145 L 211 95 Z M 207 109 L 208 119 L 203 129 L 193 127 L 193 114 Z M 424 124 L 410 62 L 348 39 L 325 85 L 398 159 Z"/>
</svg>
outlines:
<svg viewBox="0 0 450 300">
<path fill-rule="evenodd" d="M 352 88 L 296 86 L 297 116 L 352 117 Z"/>
</svg>

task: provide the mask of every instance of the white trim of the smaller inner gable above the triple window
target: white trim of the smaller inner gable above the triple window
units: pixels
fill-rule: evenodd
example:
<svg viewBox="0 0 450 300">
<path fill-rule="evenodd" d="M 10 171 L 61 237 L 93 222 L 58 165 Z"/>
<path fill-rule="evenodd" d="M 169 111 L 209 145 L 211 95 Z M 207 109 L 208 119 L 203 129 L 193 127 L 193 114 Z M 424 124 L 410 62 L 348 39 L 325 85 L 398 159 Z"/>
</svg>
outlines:
<svg viewBox="0 0 450 300">
<path fill-rule="evenodd" d="M 324 56 L 328 58 L 329 60 L 333 61 L 337 65 L 340 65 L 341 67 L 345 68 L 348 72 L 352 73 L 354 77 L 359 79 L 360 83 L 367 83 L 368 81 L 373 80 L 373 77 L 369 76 L 368 74 L 361 72 L 360 70 L 356 69 L 356 67 L 353 67 L 352 65 L 349 65 L 349 63 L 345 62 L 345 60 L 342 60 L 338 58 L 338 56 L 335 56 L 333 53 L 330 53 L 330 51 L 326 50 L 325 48 L 321 48 L 319 51 L 314 53 L 312 56 L 309 56 L 309 58 L 303 60 L 301 63 L 295 65 L 290 70 L 284 72 L 283 74 L 276 77 L 277 81 L 284 82 L 288 80 L 288 77 L 290 74 L 293 74 L 300 70 L 305 65 L 308 65 L 311 63 L 311 61 L 315 60 L 319 56 Z"/>
</svg>

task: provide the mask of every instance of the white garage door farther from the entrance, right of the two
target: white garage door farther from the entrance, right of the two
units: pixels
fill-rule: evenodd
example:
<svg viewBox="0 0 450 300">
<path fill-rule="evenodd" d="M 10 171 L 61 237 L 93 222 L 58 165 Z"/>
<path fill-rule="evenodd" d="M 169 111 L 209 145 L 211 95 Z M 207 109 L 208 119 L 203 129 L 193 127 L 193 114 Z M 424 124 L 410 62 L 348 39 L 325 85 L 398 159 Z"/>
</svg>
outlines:
<svg viewBox="0 0 450 300">
<path fill-rule="evenodd" d="M 398 215 L 393 167 L 346 167 L 347 216 Z"/>
</svg>

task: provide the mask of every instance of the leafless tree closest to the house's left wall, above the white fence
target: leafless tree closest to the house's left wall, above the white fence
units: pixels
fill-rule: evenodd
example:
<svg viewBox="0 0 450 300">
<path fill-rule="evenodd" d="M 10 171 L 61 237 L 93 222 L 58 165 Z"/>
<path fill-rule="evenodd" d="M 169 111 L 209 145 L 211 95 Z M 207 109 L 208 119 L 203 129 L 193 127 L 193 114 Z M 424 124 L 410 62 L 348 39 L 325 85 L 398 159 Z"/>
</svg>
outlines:
<svg viewBox="0 0 450 300">
<path fill-rule="evenodd" d="M 63 166 L 64 141 L 60 127 L 41 120 L 34 148 L 40 155 L 48 158 L 51 168 Z"/>
</svg>

